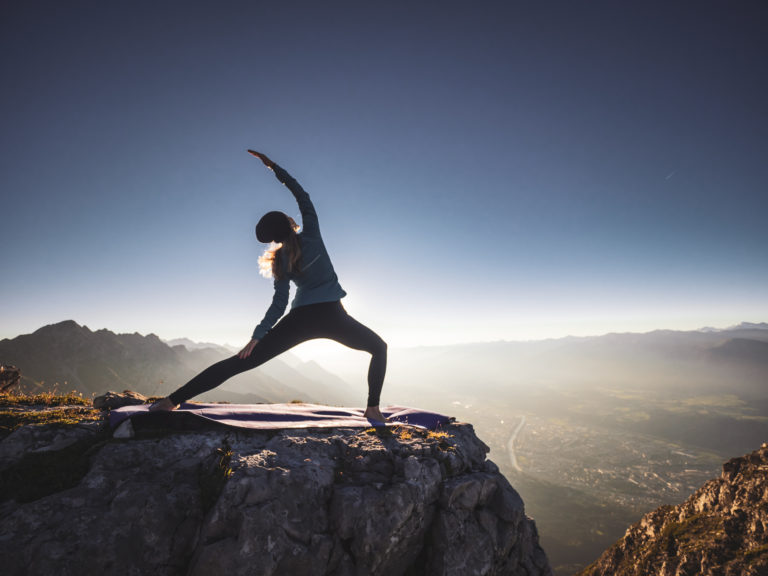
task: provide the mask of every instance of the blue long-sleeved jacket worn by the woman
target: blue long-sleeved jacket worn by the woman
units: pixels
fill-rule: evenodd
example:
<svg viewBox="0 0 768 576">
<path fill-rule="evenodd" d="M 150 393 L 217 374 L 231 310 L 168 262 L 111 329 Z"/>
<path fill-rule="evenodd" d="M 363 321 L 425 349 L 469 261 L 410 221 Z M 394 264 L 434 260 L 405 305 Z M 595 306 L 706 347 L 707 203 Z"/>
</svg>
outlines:
<svg viewBox="0 0 768 576">
<path fill-rule="evenodd" d="M 275 164 L 272 169 L 277 179 L 293 193 L 301 211 L 302 230 L 298 234 L 301 245 L 301 264 L 298 274 L 286 274 L 281 280 L 275 279 L 272 304 L 267 309 L 264 319 L 253 331 L 253 338 L 258 340 L 261 340 L 285 313 L 291 280 L 296 284 L 296 296 L 293 298 L 291 308 L 320 302 L 336 302 L 347 295 L 339 284 L 331 258 L 323 244 L 317 212 L 309 199 L 309 194 L 280 166 Z"/>
</svg>

